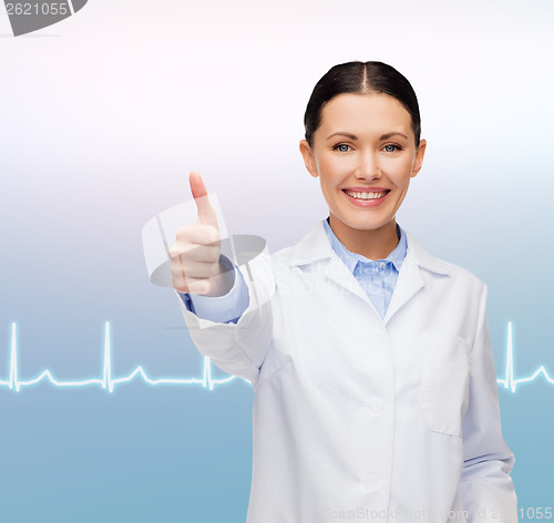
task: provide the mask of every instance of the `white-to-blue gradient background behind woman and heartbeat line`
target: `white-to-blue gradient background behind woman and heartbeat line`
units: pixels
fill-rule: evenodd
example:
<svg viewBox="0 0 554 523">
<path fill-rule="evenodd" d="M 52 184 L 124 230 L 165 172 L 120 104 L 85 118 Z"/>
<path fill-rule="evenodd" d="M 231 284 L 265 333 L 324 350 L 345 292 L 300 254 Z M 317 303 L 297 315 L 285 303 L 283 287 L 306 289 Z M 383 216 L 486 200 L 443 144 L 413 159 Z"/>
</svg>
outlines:
<svg viewBox="0 0 554 523">
<path fill-rule="evenodd" d="M 197 170 L 232 234 L 270 250 L 326 216 L 298 152 L 316 81 L 382 60 L 418 93 L 428 152 L 398 222 L 489 285 L 497 376 L 554 376 L 554 3 L 90 0 L 13 38 L 0 13 L 0 377 L 201 376 L 141 229 Z M 3 355 L 3 356 L 2 356 Z M 225 376 L 214 367 L 214 375 Z M 554 387 L 499 388 L 520 506 L 554 505 Z M 0 521 L 242 522 L 252 388 L 0 389 Z M 424 473 L 424 471 L 422 471 Z M 522 521 L 526 521 L 526 517 Z"/>
</svg>

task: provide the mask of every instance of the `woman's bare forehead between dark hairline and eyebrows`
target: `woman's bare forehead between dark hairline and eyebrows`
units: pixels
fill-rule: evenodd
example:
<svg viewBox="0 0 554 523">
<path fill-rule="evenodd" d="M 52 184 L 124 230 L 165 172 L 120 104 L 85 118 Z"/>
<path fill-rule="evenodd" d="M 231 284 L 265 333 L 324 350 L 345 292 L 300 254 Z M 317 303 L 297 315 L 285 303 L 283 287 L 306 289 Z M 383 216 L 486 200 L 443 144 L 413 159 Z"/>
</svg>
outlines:
<svg viewBox="0 0 554 523">
<path fill-rule="evenodd" d="M 402 131 L 413 134 L 411 115 L 393 96 L 382 93 L 342 93 L 321 110 L 318 131 L 327 136 L 337 131 L 352 134 Z"/>
</svg>

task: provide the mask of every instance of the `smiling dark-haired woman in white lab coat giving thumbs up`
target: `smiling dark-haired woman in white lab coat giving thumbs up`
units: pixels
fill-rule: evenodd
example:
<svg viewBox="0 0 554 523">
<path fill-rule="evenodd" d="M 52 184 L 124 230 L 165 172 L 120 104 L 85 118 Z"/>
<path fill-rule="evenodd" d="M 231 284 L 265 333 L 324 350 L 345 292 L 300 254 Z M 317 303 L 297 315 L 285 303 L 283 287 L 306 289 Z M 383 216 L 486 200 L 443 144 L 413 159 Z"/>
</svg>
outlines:
<svg viewBox="0 0 554 523">
<path fill-rule="evenodd" d="M 197 349 L 254 387 L 247 523 L 516 523 L 486 285 L 396 222 L 427 146 L 410 83 L 381 62 L 336 65 L 305 125 L 326 219 L 236 267 L 191 173 L 198 222 L 170 249 Z"/>
</svg>

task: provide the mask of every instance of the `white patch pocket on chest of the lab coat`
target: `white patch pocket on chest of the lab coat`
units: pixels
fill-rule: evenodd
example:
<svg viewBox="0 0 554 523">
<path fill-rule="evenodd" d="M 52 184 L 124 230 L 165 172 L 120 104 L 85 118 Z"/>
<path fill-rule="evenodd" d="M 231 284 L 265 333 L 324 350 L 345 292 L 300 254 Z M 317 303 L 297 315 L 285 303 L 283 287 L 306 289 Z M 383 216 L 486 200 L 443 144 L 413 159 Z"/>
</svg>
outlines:
<svg viewBox="0 0 554 523">
<path fill-rule="evenodd" d="M 468 408 L 471 345 L 449 332 L 420 332 L 419 409 L 434 432 L 462 437 Z"/>
</svg>

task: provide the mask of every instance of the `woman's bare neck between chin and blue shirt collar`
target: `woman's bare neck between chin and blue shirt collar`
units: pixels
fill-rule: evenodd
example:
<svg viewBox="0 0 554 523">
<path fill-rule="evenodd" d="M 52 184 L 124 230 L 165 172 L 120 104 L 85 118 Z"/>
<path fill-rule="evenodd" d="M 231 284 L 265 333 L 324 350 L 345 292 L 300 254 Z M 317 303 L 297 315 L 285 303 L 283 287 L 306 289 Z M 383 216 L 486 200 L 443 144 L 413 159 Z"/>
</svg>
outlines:
<svg viewBox="0 0 554 523">
<path fill-rule="evenodd" d="M 378 229 L 355 229 L 330 214 L 329 225 L 348 250 L 369 259 L 384 259 L 399 242 L 394 219 Z"/>
</svg>

